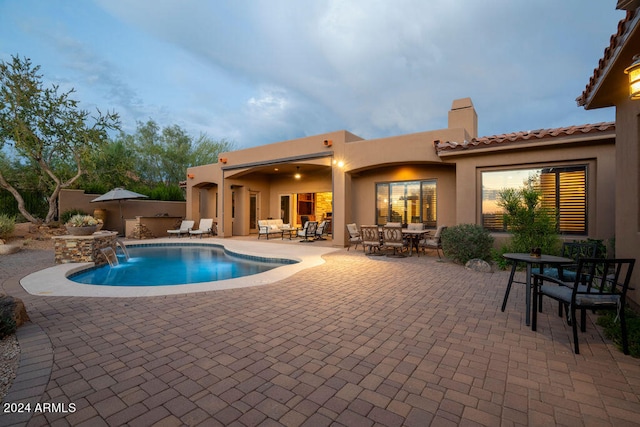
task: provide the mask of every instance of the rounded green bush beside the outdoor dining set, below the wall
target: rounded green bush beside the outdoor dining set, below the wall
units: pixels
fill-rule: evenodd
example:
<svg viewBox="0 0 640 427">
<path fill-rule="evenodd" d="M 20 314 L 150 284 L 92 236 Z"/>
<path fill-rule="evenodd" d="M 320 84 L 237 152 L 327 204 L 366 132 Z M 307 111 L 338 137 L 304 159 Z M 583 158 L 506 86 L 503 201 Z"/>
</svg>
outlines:
<svg viewBox="0 0 640 427">
<path fill-rule="evenodd" d="M 491 259 L 493 237 L 477 224 L 459 224 L 442 232 L 442 251 L 454 262 L 466 264 L 470 259 Z"/>
</svg>

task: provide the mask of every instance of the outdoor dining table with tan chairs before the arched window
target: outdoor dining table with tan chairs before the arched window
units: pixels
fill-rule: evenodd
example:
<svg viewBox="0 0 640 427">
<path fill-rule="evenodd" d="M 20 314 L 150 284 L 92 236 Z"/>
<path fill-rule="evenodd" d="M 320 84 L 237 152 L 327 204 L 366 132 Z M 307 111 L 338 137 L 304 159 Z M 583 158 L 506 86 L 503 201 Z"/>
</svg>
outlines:
<svg viewBox="0 0 640 427">
<path fill-rule="evenodd" d="M 392 257 L 412 256 L 415 249 L 420 256 L 420 251 L 435 249 L 438 258 L 442 250 L 442 232 L 447 227 L 439 226 L 434 234 L 432 230 L 424 228 L 423 224 L 407 224 L 402 227 L 400 223 L 389 222 L 384 226 L 362 225 L 360 229 L 356 224 L 347 224 L 349 233 L 349 247 L 355 244 L 362 245 L 362 249 L 367 255 L 387 255 Z"/>
</svg>

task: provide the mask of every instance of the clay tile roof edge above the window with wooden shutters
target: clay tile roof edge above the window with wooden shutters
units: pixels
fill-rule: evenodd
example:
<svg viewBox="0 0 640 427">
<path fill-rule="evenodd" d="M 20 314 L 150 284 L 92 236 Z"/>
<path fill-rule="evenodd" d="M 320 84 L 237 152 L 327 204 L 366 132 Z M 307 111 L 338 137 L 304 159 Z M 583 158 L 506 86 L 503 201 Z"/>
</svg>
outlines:
<svg viewBox="0 0 640 427">
<path fill-rule="evenodd" d="M 544 142 L 549 141 L 552 138 L 563 136 L 615 131 L 615 128 L 615 122 L 602 122 L 577 126 L 566 126 L 561 128 L 512 132 L 502 135 L 483 136 L 480 138 L 473 138 L 471 141 L 434 141 L 434 147 L 436 153 L 440 154 L 442 152 L 490 148 L 492 146 L 519 142 Z"/>
</svg>

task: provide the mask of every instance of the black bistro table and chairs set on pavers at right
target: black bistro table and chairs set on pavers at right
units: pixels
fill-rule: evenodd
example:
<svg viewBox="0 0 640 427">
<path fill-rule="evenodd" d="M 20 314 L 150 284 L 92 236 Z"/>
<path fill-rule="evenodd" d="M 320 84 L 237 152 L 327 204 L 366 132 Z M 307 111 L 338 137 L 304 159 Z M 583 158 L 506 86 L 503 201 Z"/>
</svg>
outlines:
<svg viewBox="0 0 640 427">
<path fill-rule="evenodd" d="M 578 312 L 580 330 L 586 331 L 587 310 L 611 310 L 617 313 L 622 332 L 622 351 L 629 354 L 625 305 L 635 259 L 606 259 L 597 257 L 597 245 L 592 242 L 566 242 L 562 256 L 506 253 L 512 268 L 502 301 L 505 310 L 511 285 L 526 285 L 525 323 L 537 329 L 538 313 L 542 312 L 543 297 L 558 301 L 558 315 L 566 315 L 572 327 L 575 354 L 578 344 Z M 526 265 L 525 282 L 514 280 L 518 265 Z M 538 271 L 533 271 L 537 266 Z M 545 268 L 545 266 L 547 266 Z"/>
</svg>

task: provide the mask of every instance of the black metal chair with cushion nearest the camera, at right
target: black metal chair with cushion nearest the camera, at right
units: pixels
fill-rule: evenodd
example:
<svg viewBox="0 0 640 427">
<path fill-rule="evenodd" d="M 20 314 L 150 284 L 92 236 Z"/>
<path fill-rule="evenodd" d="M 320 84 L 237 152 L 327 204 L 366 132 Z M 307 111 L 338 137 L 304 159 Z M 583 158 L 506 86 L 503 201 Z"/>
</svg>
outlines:
<svg viewBox="0 0 640 427">
<path fill-rule="evenodd" d="M 634 264 L 635 259 L 582 258 L 578 260 L 576 276 L 572 282 L 533 274 L 531 329 L 536 330 L 538 304 L 542 303 L 542 297 L 559 301 L 565 307 L 567 320 L 573 328 L 574 351 L 579 354 L 577 311 L 580 310 L 580 329 L 585 332 L 586 310 L 615 310 L 622 329 L 622 351 L 629 354 L 624 308 Z"/>
</svg>

